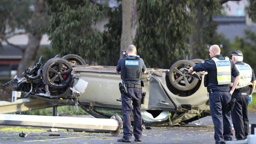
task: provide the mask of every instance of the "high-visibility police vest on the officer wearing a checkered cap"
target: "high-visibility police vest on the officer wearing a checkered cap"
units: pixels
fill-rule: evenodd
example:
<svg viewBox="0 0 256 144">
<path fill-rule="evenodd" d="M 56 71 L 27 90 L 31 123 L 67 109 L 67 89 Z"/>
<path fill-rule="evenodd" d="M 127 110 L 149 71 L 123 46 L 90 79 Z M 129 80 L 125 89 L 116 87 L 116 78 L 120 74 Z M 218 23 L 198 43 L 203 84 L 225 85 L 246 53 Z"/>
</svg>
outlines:
<svg viewBox="0 0 256 144">
<path fill-rule="evenodd" d="M 252 83 L 250 82 L 252 80 L 252 68 L 250 67 L 250 65 L 245 63 L 245 65 L 236 65 L 236 68 L 240 74 L 239 83 L 236 86 L 236 89 L 245 87 L 247 85 L 252 85 Z"/>
</svg>

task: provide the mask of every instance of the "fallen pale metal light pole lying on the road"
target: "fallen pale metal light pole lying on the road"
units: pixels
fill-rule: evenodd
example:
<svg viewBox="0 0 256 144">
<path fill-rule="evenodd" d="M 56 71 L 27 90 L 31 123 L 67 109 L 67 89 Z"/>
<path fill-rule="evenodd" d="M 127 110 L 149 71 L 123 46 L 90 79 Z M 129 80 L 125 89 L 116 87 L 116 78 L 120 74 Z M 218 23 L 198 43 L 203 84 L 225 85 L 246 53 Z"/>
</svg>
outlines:
<svg viewBox="0 0 256 144">
<path fill-rule="evenodd" d="M 110 132 L 111 135 L 117 136 L 122 128 L 122 119 L 119 116 L 112 116 L 110 119 L 106 119 L 0 114 L 0 125 L 84 129 L 85 131 Z"/>
</svg>

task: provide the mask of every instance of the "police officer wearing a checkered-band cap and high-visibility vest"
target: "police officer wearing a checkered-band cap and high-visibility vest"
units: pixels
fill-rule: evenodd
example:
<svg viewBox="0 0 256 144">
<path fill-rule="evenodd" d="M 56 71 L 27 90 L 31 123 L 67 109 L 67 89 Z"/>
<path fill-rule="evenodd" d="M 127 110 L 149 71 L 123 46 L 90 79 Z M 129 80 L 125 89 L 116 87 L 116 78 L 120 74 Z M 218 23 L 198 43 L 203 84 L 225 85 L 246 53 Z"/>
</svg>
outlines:
<svg viewBox="0 0 256 144">
<path fill-rule="evenodd" d="M 249 98 L 255 89 L 256 79 L 254 70 L 250 65 L 243 62 L 243 53 L 241 51 L 234 50 L 230 56 L 232 56 L 232 61 L 236 64 L 236 68 L 240 73 L 239 83 L 232 94 L 232 98 L 236 99 L 236 103 L 231 112 L 231 117 L 236 131 L 236 139 L 244 140 L 249 133 L 247 106 Z M 234 77 L 232 77 L 231 86 L 233 81 Z"/>
</svg>

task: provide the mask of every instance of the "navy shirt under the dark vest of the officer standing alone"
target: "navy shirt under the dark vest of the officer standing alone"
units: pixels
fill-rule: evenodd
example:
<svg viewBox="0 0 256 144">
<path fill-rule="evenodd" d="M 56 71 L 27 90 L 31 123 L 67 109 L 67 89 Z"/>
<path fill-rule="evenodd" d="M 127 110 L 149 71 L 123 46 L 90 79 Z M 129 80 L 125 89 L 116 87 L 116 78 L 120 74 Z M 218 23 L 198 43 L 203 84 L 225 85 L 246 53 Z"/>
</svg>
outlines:
<svg viewBox="0 0 256 144">
<path fill-rule="evenodd" d="M 133 58 L 133 59 L 135 59 L 137 56 L 128 55 L 127 57 L 128 57 L 128 58 Z M 121 58 L 119 59 L 119 61 L 118 61 L 118 63 L 117 63 L 117 68 L 116 68 L 116 70 L 117 70 L 118 72 L 120 72 L 121 69 L 125 67 L 124 61 L 125 61 L 125 59 L 124 59 L 123 57 L 121 57 Z M 147 70 L 147 68 L 146 68 L 146 66 L 145 66 L 144 61 L 143 61 L 142 58 L 139 58 L 139 69 L 140 69 L 142 72 L 145 72 L 145 71 Z M 132 85 L 141 85 L 141 80 L 138 80 L 138 81 L 125 81 L 125 80 L 124 80 L 124 84 L 126 84 L 126 85 L 130 85 L 130 84 L 132 84 Z"/>
</svg>

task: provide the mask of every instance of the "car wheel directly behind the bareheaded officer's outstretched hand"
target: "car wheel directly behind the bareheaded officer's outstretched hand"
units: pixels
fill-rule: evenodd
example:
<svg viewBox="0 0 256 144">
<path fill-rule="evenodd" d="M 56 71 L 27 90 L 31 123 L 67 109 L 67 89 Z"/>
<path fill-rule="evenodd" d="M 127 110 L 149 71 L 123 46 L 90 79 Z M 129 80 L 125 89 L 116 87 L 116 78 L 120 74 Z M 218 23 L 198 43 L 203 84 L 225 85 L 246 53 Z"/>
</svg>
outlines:
<svg viewBox="0 0 256 144">
<path fill-rule="evenodd" d="M 184 68 L 189 69 L 192 66 L 195 66 L 195 63 L 189 60 L 180 60 L 171 66 L 169 79 L 174 88 L 186 91 L 197 85 L 198 79 L 188 75 L 184 70 Z"/>
</svg>

